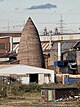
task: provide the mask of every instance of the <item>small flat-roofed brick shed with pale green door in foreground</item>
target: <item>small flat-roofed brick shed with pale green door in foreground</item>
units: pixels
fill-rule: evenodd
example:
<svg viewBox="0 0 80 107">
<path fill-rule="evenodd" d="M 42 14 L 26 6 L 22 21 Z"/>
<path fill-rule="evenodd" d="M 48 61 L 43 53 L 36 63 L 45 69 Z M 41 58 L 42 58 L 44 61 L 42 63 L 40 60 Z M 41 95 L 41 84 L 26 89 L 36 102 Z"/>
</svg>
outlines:
<svg viewBox="0 0 80 107">
<path fill-rule="evenodd" d="M 77 87 L 42 87 L 41 95 L 44 101 L 55 101 L 58 99 L 79 96 L 80 89 Z"/>
</svg>

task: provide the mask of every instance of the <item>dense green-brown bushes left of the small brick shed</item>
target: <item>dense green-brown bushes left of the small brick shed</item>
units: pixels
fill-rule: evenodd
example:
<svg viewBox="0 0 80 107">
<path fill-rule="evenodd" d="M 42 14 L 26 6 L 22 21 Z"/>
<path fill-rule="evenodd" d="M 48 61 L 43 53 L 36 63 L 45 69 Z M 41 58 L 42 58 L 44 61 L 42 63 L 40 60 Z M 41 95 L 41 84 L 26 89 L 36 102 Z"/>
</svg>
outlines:
<svg viewBox="0 0 80 107">
<path fill-rule="evenodd" d="M 0 97 L 7 96 L 20 96 L 27 92 L 40 92 L 42 85 L 37 83 L 30 83 L 28 85 L 21 83 L 12 83 L 12 84 L 0 84 Z"/>
</svg>

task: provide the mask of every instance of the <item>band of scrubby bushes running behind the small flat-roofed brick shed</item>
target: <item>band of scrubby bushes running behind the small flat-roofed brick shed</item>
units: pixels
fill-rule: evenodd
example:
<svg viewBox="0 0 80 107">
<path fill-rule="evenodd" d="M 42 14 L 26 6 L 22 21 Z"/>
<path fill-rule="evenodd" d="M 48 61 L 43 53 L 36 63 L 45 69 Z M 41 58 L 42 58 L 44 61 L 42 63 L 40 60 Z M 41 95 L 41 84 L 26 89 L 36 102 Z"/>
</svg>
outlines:
<svg viewBox="0 0 80 107">
<path fill-rule="evenodd" d="M 67 86 L 76 86 L 80 88 L 80 83 L 74 83 L 74 84 L 43 84 L 39 85 L 37 83 L 30 83 L 30 84 L 21 84 L 18 82 L 6 84 L 2 83 L 0 84 L 0 97 L 7 97 L 7 96 L 21 96 L 25 93 L 40 93 L 41 87 L 67 87 Z"/>
</svg>

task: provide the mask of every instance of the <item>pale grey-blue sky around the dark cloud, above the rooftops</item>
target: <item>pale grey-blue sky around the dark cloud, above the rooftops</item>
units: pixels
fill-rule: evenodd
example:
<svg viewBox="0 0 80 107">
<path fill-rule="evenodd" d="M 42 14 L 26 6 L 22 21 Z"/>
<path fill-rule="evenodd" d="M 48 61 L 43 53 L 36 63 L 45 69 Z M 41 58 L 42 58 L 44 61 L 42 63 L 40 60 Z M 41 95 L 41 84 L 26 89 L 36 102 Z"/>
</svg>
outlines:
<svg viewBox="0 0 80 107">
<path fill-rule="evenodd" d="M 28 10 L 33 5 L 51 3 L 57 8 Z M 0 0 L 0 31 L 22 30 L 31 17 L 39 32 L 60 29 L 61 14 L 64 32 L 79 32 L 80 0 Z"/>
</svg>

